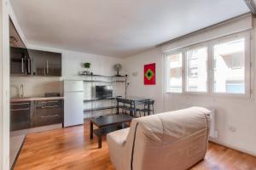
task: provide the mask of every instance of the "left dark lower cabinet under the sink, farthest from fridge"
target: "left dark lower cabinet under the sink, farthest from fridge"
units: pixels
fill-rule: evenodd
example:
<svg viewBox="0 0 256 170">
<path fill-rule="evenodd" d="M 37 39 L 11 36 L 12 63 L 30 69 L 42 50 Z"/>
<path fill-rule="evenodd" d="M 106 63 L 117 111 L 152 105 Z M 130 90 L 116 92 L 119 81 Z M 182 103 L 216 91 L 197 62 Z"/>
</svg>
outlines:
<svg viewBox="0 0 256 170">
<path fill-rule="evenodd" d="M 10 105 L 10 130 L 21 130 L 31 127 L 32 102 L 12 102 Z"/>
</svg>

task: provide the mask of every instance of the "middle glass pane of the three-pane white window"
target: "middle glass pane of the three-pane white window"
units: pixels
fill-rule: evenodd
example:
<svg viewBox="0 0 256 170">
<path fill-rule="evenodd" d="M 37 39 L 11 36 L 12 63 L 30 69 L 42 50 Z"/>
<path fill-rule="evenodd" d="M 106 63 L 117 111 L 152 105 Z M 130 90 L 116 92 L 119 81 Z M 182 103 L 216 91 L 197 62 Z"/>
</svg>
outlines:
<svg viewBox="0 0 256 170">
<path fill-rule="evenodd" d="M 187 51 L 187 91 L 207 92 L 207 47 Z"/>
</svg>

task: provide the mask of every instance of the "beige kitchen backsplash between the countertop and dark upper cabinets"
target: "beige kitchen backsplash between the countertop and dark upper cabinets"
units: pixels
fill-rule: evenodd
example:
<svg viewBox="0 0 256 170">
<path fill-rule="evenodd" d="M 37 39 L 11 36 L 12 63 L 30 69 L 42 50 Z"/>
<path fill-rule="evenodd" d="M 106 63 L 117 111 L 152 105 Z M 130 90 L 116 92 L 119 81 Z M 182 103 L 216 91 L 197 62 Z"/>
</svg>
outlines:
<svg viewBox="0 0 256 170">
<path fill-rule="evenodd" d="M 44 96 L 45 93 L 62 93 L 61 77 L 10 77 L 10 97 L 19 97 L 20 85 L 24 97 Z"/>
</svg>

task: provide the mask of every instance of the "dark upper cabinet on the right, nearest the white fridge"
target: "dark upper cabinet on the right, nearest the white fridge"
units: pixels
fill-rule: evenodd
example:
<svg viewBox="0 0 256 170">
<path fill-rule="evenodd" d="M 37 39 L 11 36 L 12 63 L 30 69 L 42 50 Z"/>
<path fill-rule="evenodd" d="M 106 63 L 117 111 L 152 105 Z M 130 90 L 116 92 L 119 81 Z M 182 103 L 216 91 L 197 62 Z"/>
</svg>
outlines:
<svg viewBox="0 0 256 170">
<path fill-rule="evenodd" d="M 61 77 L 61 54 L 28 49 L 32 58 L 32 75 Z"/>
</svg>

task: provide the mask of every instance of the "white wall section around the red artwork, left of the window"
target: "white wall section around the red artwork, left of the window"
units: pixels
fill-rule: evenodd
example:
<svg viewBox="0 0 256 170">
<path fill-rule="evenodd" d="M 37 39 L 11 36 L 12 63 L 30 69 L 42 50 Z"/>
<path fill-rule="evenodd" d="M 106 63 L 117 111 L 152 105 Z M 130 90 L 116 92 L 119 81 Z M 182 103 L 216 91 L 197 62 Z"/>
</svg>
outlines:
<svg viewBox="0 0 256 170">
<path fill-rule="evenodd" d="M 160 48 L 154 48 L 143 54 L 137 54 L 124 59 L 125 74 L 128 75 L 127 94 L 131 96 L 148 97 L 155 100 L 155 112 L 161 112 L 163 107 L 163 84 L 162 84 L 162 52 Z M 144 67 L 155 63 L 156 84 L 144 85 Z"/>
</svg>

